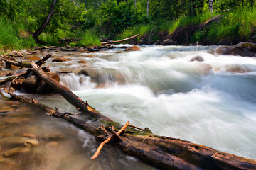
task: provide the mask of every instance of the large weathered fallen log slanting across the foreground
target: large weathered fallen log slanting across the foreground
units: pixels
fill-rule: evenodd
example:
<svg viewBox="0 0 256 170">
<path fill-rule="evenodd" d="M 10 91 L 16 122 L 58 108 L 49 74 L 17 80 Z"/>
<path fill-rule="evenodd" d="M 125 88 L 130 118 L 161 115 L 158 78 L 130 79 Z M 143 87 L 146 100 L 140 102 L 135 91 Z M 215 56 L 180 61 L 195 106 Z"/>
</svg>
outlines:
<svg viewBox="0 0 256 170">
<path fill-rule="evenodd" d="M 36 74 L 43 75 L 43 71 L 40 67 L 37 67 L 33 62 L 31 65 Z M 49 80 L 46 81 L 46 83 L 49 85 L 51 84 L 51 86 L 58 90 L 61 95 L 64 94 L 63 96 L 65 96 L 69 102 L 75 99 L 76 107 L 87 107 L 87 110 L 85 110 L 85 108 L 78 108 L 107 125 L 112 124 L 115 125 L 116 128 L 120 128 L 118 123 L 112 122 L 112 120 L 100 113 L 95 113 L 96 111 L 94 109 L 90 108 L 90 106 L 78 98 L 78 96 L 74 96 L 75 94 L 70 90 L 63 88 L 62 85 L 51 80 L 46 75 L 42 75 L 39 77 L 43 77 L 42 79 L 44 81 Z M 32 103 L 32 101 L 30 103 Z M 33 104 L 34 103 L 35 102 L 33 102 Z M 36 101 L 36 103 L 38 102 Z M 95 128 L 92 125 L 87 125 L 85 120 L 73 118 L 72 115 L 59 113 L 57 114 L 57 117 L 65 118 L 65 120 L 92 133 L 92 135 L 109 137 L 105 130 Z M 146 132 L 146 130 L 140 131 L 129 127 L 127 127 L 127 130 L 122 134 L 122 140 L 111 140 L 110 144 L 114 147 L 118 147 L 127 154 L 133 155 L 138 159 L 161 169 L 256 169 L 256 161 L 253 159 L 219 152 L 210 147 L 193 144 L 184 140 L 160 137 L 150 132 Z"/>
</svg>

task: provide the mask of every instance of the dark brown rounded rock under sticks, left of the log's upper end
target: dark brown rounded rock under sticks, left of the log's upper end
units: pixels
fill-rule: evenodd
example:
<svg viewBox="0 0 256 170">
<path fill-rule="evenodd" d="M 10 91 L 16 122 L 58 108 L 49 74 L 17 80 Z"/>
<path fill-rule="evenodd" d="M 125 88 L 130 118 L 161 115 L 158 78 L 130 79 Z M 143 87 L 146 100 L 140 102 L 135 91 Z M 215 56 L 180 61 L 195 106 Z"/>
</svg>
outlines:
<svg viewBox="0 0 256 170">
<path fill-rule="evenodd" d="M 27 77 L 23 81 L 21 86 L 26 91 L 33 92 L 33 91 L 36 91 L 36 89 L 38 88 L 38 86 L 40 86 L 40 84 L 41 84 L 41 79 L 36 75 L 32 75 L 30 77 Z"/>
</svg>

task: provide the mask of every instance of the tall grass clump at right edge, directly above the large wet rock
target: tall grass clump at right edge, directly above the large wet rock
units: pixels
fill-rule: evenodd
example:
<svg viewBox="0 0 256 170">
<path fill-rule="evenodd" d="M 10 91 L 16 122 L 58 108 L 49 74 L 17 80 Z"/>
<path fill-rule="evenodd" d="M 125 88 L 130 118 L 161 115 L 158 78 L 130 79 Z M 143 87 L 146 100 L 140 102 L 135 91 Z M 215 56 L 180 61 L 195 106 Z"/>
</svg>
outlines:
<svg viewBox="0 0 256 170">
<path fill-rule="evenodd" d="M 230 43 L 250 40 L 256 30 L 256 8 L 245 6 L 222 13 L 220 23 L 215 23 L 208 30 L 193 35 L 194 41 L 208 40 L 210 43 L 228 40 Z"/>
</svg>

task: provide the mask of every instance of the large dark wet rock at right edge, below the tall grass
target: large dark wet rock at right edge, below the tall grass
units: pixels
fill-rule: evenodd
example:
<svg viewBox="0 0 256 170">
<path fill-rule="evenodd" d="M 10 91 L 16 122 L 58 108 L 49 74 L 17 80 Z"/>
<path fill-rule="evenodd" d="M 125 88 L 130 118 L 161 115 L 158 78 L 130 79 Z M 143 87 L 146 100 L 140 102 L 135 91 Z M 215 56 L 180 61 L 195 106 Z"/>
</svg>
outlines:
<svg viewBox="0 0 256 170">
<path fill-rule="evenodd" d="M 218 55 L 239 55 L 242 57 L 256 57 L 256 44 L 240 42 L 231 47 L 218 47 L 215 52 Z"/>
</svg>

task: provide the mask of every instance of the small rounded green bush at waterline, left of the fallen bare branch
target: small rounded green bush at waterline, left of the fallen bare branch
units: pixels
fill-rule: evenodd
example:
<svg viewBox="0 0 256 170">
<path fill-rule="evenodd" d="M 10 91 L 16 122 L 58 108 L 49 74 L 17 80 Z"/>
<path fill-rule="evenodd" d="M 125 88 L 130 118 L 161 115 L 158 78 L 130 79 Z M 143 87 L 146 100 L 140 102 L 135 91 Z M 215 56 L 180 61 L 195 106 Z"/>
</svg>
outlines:
<svg viewBox="0 0 256 170">
<path fill-rule="evenodd" d="M 81 40 L 77 43 L 78 46 L 90 47 L 93 45 L 100 45 L 100 40 L 97 34 L 92 30 L 85 30 L 80 33 Z"/>
</svg>

